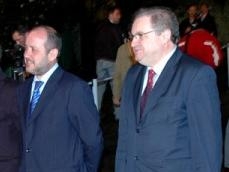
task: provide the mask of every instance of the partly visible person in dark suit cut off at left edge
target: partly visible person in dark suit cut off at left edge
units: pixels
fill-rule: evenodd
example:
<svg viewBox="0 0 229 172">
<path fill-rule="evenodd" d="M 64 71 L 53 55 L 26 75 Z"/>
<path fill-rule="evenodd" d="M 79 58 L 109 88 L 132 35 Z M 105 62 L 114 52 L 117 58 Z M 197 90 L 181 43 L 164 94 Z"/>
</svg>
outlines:
<svg viewBox="0 0 229 172">
<path fill-rule="evenodd" d="M 0 69 L 0 171 L 18 172 L 21 146 L 17 83 Z"/>
</svg>

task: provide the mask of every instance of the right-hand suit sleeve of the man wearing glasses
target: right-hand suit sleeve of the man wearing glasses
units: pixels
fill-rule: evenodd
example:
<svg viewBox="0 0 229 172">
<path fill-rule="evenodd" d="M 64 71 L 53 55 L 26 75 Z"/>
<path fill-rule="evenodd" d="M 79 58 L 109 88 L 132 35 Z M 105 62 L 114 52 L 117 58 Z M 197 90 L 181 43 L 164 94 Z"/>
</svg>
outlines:
<svg viewBox="0 0 229 172">
<path fill-rule="evenodd" d="M 209 67 L 194 76 L 187 112 L 191 135 L 191 153 L 196 172 L 220 172 L 222 162 L 221 112 L 216 77 Z"/>
</svg>

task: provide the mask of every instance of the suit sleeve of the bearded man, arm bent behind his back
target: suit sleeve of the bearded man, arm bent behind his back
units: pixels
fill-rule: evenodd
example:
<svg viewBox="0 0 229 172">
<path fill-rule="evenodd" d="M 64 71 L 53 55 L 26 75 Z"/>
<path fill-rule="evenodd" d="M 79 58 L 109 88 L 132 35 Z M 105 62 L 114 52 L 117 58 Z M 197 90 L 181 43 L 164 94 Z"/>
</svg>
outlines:
<svg viewBox="0 0 229 172">
<path fill-rule="evenodd" d="M 91 88 L 84 82 L 74 84 L 70 92 L 69 112 L 83 145 L 88 172 L 96 172 L 103 149 L 102 131 Z"/>
</svg>

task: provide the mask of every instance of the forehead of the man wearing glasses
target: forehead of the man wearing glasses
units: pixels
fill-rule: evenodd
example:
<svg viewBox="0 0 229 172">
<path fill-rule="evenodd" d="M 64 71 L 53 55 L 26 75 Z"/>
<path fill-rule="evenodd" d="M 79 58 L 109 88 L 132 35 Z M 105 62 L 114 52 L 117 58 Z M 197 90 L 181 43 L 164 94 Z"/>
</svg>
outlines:
<svg viewBox="0 0 229 172">
<path fill-rule="evenodd" d="M 141 16 L 134 20 L 131 31 L 134 34 L 148 29 L 152 29 L 150 16 Z"/>
</svg>

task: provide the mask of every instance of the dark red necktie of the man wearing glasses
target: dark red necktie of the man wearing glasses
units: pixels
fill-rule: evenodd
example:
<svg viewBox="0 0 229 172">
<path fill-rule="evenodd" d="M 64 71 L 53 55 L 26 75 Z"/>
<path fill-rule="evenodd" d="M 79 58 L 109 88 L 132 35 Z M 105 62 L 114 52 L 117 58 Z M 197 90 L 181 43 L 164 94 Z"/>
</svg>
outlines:
<svg viewBox="0 0 229 172">
<path fill-rule="evenodd" d="M 146 88 L 141 96 L 141 102 L 140 102 L 140 118 L 142 118 L 142 114 L 146 105 L 147 97 L 150 93 L 150 91 L 153 88 L 153 77 L 155 76 L 155 72 L 153 69 L 150 69 L 148 71 L 148 80 L 147 80 L 147 85 Z"/>
</svg>

